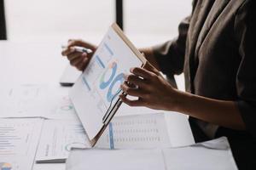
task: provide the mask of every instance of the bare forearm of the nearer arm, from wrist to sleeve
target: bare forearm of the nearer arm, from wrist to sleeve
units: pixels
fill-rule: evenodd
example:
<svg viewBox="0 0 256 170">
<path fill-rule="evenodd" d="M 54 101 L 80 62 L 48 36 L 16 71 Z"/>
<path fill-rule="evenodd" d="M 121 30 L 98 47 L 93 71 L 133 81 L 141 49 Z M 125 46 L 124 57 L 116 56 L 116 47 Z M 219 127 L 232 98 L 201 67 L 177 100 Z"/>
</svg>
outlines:
<svg viewBox="0 0 256 170">
<path fill-rule="evenodd" d="M 234 101 L 204 98 L 194 94 L 178 92 L 178 112 L 223 127 L 243 130 L 245 124 Z"/>
</svg>

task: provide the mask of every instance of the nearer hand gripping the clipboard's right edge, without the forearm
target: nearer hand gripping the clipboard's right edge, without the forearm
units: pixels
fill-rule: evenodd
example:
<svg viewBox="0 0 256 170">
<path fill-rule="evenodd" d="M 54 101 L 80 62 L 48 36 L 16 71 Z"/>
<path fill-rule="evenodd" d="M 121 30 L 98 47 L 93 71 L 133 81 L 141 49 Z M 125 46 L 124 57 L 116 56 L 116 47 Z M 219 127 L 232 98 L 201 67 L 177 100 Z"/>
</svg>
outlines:
<svg viewBox="0 0 256 170">
<path fill-rule="evenodd" d="M 131 68 L 131 73 L 125 76 L 121 88 L 125 94 L 136 96 L 138 99 L 127 99 L 121 94 L 120 98 L 125 104 L 175 111 L 178 92 L 153 65 L 147 62 L 144 68 Z"/>
</svg>

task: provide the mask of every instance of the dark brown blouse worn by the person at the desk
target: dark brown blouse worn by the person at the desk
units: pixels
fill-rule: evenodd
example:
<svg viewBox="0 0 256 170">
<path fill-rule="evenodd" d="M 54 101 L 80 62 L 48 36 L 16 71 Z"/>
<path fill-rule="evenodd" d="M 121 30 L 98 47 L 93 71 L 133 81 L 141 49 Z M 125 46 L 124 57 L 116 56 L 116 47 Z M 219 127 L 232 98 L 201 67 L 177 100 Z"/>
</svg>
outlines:
<svg viewBox="0 0 256 170">
<path fill-rule="evenodd" d="M 161 71 L 184 72 L 188 92 L 236 101 L 247 130 L 218 127 L 215 137 L 256 139 L 255 10 L 255 0 L 195 0 L 178 37 L 154 47 Z"/>
</svg>

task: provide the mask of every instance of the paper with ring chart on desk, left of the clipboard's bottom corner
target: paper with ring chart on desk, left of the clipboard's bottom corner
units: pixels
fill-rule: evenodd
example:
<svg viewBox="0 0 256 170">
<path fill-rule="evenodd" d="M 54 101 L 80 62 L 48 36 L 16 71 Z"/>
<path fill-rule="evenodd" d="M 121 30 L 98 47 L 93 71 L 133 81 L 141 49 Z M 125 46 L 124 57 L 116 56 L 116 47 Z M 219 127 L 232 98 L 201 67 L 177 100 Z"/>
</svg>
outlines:
<svg viewBox="0 0 256 170">
<path fill-rule="evenodd" d="M 89 148 L 82 124 L 70 120 L 46 120 L 38 144 L 37 162 L 65 162 L 72 148 Z"/>
</svg>

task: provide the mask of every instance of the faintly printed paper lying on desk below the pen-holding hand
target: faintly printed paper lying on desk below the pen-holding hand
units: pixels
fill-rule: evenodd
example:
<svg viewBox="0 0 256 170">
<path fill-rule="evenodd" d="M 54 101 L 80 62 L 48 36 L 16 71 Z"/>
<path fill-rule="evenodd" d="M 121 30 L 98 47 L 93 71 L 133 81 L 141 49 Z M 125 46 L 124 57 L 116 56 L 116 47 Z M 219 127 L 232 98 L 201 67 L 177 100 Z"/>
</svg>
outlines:
<svg viewBox="0 0 256 170">
<path fill-rule="evenodd" d="M 0 117 L 77 119 L 68 89 L 40 84 L 1 89 Z"/>
</svg>

